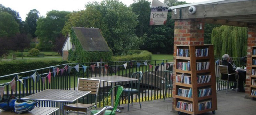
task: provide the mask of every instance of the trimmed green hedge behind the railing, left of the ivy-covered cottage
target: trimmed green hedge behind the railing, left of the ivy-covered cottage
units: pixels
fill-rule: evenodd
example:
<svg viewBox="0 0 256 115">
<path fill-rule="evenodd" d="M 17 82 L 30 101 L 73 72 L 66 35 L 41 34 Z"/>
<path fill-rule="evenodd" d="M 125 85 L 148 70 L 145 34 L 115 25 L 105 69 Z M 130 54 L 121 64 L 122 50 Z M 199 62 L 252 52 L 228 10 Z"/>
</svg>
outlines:
<svg viewBox="0 0 256 115">
<path fill-rule="evenodd" d="M 0 62 L 0 76 L 3 75 L 9 75 L 13 73 L 19 73 L 19 72 L 25 72 L 29 70 L 34 70 L 34 69 L 40 69 L 40 68 L 45 68 L 45 67 L 50 67 L 54 65 L 61 65 L 61 64 L 66 64 L 66 63 L 71 63 L 68 61 L 55 61 L 55 60 L 49 60 L 49 61 L 39 61 L 39 60 L 13 60 L 13 61 L 3 61 Z M 45 72 L 49 71 L 47 69 L 44 70 Z M 41 71 L 40 71 L 41 72 Z M 31 73 L 27 74 L 21 74 L 20 76 L 29 76 Z M 13 76 L 10 76 L 9 79 L 12 79 Z M 8 78 L 4 78 L 8 79 Z"/>
</svg>

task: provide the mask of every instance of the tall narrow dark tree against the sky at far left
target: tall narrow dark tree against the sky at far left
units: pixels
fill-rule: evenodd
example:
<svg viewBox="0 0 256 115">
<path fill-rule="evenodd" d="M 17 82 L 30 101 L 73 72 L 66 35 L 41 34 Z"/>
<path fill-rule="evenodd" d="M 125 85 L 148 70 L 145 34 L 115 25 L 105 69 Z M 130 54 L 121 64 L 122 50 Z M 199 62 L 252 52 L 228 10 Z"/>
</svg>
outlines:
<svg viewBox="0 0 256 115">
<path fill-rule="evenodd" d="M 36 21 L 39 18 L 39 11 L 36 9 L 30 10 L 27 14 L 25 22 L 28 24 L 29 33 L 32 35 L 32 37 L 36 37 Z"/>
</svg>

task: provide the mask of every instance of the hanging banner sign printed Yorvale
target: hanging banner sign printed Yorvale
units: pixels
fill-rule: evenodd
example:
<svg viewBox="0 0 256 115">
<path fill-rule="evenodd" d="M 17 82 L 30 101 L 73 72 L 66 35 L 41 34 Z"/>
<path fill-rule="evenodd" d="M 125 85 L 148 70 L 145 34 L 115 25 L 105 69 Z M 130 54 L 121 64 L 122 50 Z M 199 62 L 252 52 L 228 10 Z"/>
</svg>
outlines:
<svg viewBox="0 0 256 115">
<path fill-rule="evenodd" d="M 165 25 L 168 7 L 158 0 L 152 0 L 149 25 Z"/>
</svg>

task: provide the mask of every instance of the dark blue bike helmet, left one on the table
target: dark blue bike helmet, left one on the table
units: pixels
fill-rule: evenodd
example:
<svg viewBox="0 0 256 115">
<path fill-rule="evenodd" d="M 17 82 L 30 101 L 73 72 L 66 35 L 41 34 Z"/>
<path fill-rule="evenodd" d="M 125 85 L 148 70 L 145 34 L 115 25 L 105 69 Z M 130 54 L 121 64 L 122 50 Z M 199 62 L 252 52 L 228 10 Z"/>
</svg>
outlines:
<svg viewBox="0 0 256 115">
<path fill-rule="evenodd" d="M 0 109 L 4 111 L 13 111 L 14 110 L 14 103 L 17 100 L 17 97 L 10 96 L 8 99 L 3 98 L 0 101 Z"/>
</svg>

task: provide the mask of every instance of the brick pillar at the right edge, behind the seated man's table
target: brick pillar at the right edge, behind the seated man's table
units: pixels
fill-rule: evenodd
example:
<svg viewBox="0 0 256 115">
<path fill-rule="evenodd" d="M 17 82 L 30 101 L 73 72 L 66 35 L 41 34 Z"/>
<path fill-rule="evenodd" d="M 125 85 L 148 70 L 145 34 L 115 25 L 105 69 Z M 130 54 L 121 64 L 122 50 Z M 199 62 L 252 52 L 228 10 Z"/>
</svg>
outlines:
<svg viewBox="0 0 256 115">
<path fill-rule="evenodd" d="M 251 85 L 251 74 L 252 74 L 252 46 L 256 46 L 256 24 L 248 25 L 245 97 L 250 96 L 250 85 Z"/>
</svg>

